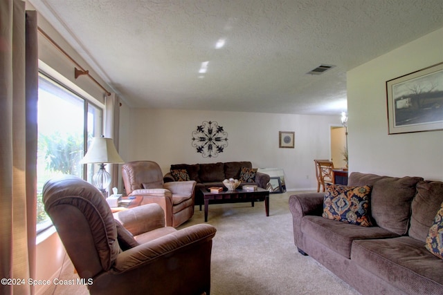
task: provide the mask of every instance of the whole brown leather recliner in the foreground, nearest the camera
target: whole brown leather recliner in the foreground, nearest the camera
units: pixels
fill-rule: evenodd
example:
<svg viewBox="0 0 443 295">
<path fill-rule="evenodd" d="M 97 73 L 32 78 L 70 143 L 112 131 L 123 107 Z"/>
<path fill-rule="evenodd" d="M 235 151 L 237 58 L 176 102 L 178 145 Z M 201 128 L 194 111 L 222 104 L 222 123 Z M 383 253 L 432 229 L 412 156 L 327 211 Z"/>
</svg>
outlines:
<svg viewBox="0 0 443 295">
<path fill-rule="evenodd" d="M 215 227 L 165 227 L 158 204 L 113 216 L 100 191 L 73 175 L 46 182 L 43 201 L 91 294 L 210 293 Z"/>
</svg>

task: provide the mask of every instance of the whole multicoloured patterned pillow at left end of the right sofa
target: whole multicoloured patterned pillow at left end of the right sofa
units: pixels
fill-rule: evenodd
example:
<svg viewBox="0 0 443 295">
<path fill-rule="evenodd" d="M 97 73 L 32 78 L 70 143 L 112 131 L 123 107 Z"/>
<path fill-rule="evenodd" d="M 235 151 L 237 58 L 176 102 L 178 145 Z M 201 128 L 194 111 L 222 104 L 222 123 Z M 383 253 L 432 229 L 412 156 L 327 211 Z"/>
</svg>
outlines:
<svg viewBox="0 0 443 295">
<path fill-rule="evenodd" d="M 323 200 L 323 217 L 362 227 L 372 227 L 370 193 L 372 187 L 347 187 L 327 184 Z"/>
</svg>

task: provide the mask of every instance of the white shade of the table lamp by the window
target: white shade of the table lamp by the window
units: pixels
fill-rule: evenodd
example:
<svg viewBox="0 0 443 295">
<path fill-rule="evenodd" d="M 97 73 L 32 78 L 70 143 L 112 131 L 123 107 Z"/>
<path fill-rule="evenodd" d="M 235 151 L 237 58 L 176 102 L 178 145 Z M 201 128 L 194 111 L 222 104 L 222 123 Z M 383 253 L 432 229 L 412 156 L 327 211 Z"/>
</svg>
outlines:
<svg viewBox="0 0 443 295">
<path fill-rule="evenodd" d="M 112 138 L 93 137 L 91 146 L 81 161 L 84 163 L 115 163 L 123 164 L 124 161 L 118 155 Z"/>
</svg>

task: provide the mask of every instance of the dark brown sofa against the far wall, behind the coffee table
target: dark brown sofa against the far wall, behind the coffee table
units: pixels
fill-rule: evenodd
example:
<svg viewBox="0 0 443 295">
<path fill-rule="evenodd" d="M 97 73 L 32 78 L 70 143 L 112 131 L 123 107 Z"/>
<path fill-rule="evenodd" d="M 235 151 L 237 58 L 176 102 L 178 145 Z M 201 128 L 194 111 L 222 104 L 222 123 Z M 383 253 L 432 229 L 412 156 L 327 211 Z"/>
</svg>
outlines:
<svg viewBox="0 0 443 295">
<path fill-rule="evenodd" d="M 185 169 L 188 172 L 190 180 L 195 180 L 195 204 L 203 204 L 203 195 L 200 189 L 210 187 L 224 187 L 223 180 L 234 178 L 240 180 L 240 171 L 242 168 L 252 169 L 251 162 L 217 162 L 210 164 L 172 164 L 170 171 Z M 255 172 L 254 182 L 242 182 L 244 184 L 255 184 L 258 187 L 266 189 L 271 178 L 266 173 Z M 170 172 L 163 177 L 165 183 L 175 181 L 176 179 Z"/>
</svg>

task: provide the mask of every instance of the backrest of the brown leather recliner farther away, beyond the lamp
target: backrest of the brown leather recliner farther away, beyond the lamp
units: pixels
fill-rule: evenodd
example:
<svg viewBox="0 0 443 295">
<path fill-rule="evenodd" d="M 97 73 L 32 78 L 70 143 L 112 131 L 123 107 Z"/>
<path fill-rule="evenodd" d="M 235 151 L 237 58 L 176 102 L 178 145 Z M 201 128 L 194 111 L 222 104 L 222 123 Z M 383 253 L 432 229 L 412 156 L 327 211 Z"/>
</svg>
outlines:
<svg viewBox="0 0 443 295">
<path fill-rule="evenodd" d="M 127 195 L 136 189 L 163 188 L 163 174 L 156 162 L 127 162 L 122 166 L 122 177 Z"/>
</svg>

